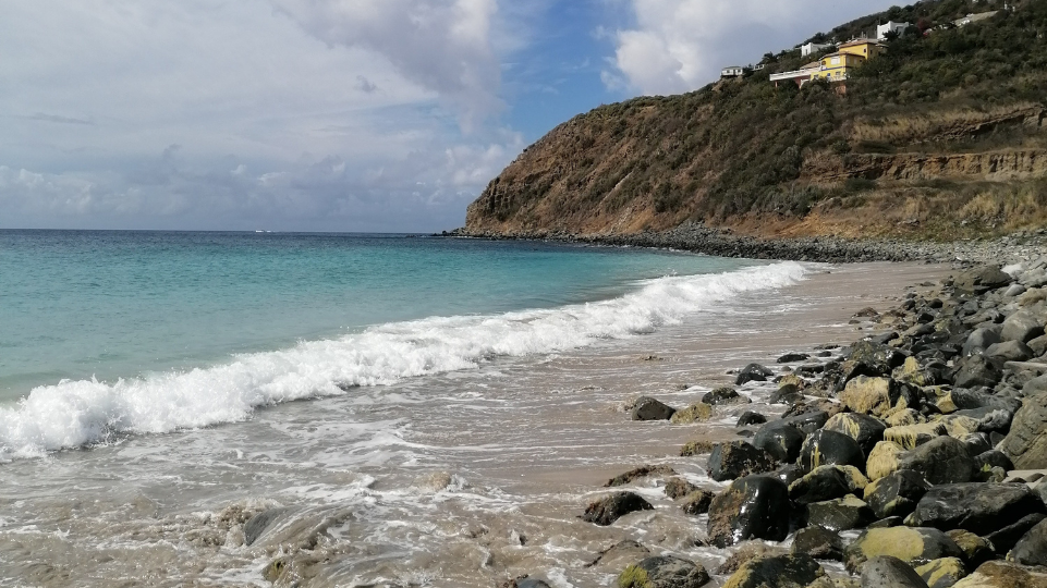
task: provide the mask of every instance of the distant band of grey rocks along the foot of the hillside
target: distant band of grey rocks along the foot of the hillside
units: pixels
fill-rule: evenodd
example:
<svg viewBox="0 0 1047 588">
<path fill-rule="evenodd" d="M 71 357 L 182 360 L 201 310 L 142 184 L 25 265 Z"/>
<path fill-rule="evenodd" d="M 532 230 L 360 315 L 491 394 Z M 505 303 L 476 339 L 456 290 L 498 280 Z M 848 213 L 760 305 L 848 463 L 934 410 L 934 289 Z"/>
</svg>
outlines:
<svg viewBox="0 0 1047 588">
<path fill-rule="evenodd" d="M 951 243 L 833 236 L 757 238 L 698 223 L 682 224 L 665 232 L 636 234 L 576 234 L 563 231 L 492 233 L 455 229 L 436 236 L 671 248 L 719 257 L 825 262 L 928 261 L 1009 265 L 1047 255 L 1047 230 L 1020 232 L 996 240 Z"/>
</svg>

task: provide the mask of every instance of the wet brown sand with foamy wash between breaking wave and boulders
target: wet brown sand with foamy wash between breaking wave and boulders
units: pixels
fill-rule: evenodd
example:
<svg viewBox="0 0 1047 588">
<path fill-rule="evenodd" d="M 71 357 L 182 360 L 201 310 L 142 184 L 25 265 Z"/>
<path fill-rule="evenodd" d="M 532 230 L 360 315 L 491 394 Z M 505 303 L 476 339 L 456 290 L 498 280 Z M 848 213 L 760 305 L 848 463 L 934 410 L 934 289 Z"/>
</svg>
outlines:
<svg viewBox="0 0 1047 588">
<path fill-rule="evenodd" d="M 5 464 L 0 586 L 269 586 L 263 569 L 282 558 L 302 586 L 488 587 L 532 574 L 596 587 L 631 562 L 585 565 L 622 539 L 715 568 L 730 551 L 696 547 L 705 517 L 684 515 L 656 480 L 633 488 L 655 511 L 611 527 L 576 516 L 608 478 L 644 464 L 722 488 L 680 446 L 736 438 L 745 409 L 783 409 L 762 404 L 771 388 L 758 384 L 740 389 L 753 405 L 699 425 L 631 421 L 630 400 L 682 407 L 731 383 L 729 369 L 849 343 L 867 333 L 848 323 L 856 310 L 886 310 L 948 272 L 819 268 L 652 334 Z M 243 520 L 278 505 L 289 525 L 244 547 Z"/>
</svg>

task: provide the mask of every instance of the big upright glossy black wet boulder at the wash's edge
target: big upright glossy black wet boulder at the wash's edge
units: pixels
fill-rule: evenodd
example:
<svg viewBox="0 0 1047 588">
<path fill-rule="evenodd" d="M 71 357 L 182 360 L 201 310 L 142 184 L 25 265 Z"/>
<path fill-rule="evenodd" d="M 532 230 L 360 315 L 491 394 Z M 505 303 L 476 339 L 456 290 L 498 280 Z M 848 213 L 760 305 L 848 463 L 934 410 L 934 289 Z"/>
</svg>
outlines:
<svg viewBox="0 0 1047 588">
<path fill-rule="evenodd" d="M 709 541 L 717 547 L 747 539 L 781 541 L 789 535 L 789 488 L 774 476 L 734 480 L 709 506 Z"/>
</svg>

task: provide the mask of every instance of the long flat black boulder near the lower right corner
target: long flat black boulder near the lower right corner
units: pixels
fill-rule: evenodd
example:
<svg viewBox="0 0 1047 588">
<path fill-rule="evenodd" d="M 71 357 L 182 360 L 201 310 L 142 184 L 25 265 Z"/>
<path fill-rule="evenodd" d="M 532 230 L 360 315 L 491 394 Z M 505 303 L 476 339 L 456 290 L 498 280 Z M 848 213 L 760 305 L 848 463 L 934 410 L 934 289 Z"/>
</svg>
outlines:
<svg viewBox="0 0 1047 588">
<path fill-rule="evenodd" d="M 928 490 L 906 523 L 985 536 L 1045 510 L 1024 483 L 949 483 Z"/>
</svg>

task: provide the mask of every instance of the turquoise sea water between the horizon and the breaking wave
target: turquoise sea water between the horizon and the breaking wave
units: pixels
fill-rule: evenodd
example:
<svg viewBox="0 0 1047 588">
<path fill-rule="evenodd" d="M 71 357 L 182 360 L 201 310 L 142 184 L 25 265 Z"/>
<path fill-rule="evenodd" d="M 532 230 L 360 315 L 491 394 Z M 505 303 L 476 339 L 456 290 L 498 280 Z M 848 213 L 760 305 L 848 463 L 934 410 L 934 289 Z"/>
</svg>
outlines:
<svg viewBox="0 0 1047 588">
<path fill-rule="evenodd" d="M 402 235 L 0 231 L 0 401 L 367 326 L 607 299 L 750 262 Z"/>
</svg>

